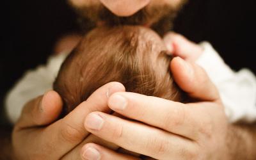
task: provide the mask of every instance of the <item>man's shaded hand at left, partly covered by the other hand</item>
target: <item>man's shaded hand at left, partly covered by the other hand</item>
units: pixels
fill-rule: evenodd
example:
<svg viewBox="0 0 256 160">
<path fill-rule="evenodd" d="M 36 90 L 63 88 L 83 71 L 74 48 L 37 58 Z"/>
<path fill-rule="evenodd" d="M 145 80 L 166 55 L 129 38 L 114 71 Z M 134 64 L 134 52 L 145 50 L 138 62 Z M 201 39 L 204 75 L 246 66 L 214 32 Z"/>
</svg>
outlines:
<svg viewBox="0 0 256 160">
<path fill-rule="evenodd" d="M 76 146 L 84 141 L 100 141 L 89 135 L 83 127 L 84 118 L 93 111 L 109 113 L 108 95 L 125 91 L 120 83 L 108 83 L 95 91 L 86 101 L 81 103 L 65 118 L 57 120 L 62 108 L 60 95 L 56 92 L 45 93 L 24 107 L 22 115 L 13 130 L 13 159 L 80 159 L 79 152 L 74 152 Z M 52 123 L 54 122 L 54 123 Z M 102 143 L 100 143 L 102 145 Z M 117 149 L 116 145 L 106 144 Z M 75 148 L 75 149 L 74 149 Z M 136 159 L 125 154 L 112 154 L 113 150 L 100 147 L 105 155 L 115 159 Z M 89 150 L 97 152 L 97 150 Z M 75 153 L 76 156 L 74 156 Z"/>
</svg>

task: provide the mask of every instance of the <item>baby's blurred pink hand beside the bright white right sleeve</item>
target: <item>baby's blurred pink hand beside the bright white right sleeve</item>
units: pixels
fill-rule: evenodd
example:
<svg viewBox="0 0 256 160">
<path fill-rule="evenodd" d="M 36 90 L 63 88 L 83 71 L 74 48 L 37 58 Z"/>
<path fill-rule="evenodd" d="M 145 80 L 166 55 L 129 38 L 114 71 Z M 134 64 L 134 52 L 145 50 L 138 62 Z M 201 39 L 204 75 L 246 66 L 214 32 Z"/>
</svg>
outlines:
<svg viewBox="0 0 256 160">
<path fill-rule="evenodd" d="M 188 61 L 196 61 L 203 52 L 200 45 L 175 32 L 167 33 L 164 36 L 164 43 L 173 56 L 179 56 Z"/>
</svg>

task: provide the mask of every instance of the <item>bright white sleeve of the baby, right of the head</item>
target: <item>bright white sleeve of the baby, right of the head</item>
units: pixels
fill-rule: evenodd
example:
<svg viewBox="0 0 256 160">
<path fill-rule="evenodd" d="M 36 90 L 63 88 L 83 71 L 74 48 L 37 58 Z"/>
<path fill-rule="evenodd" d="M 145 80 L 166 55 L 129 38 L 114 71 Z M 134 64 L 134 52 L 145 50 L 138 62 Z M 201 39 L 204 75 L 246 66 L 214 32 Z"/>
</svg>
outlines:
<svg viewBox="0 0 256 160">
<path fill-rule="evenodd" d="M 230 122 L 256 120 L 256 77 L 248 69 L 234 72 L 208 42 L 202 42 L 204 53 L 196 63 L 205 69 L 220 92 Z"/>
</svg>

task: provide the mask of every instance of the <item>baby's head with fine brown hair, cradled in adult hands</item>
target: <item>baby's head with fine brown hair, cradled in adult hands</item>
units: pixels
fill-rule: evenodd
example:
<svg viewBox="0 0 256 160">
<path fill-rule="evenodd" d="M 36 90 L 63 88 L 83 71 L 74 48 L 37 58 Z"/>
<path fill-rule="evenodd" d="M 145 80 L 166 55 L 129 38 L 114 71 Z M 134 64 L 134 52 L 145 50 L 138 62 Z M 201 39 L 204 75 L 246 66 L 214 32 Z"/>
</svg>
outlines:
<svg viewBox="0 0 256 160">
<path fill-rule="evenodd" d="M 63 62 L 53 88 L 63 99 L 64 115 L 111 81 L 124 84 L 127 92 L 183 101 L 171 59 L 163 40 L 148 28 L 96 28 Z"/>
</svg>

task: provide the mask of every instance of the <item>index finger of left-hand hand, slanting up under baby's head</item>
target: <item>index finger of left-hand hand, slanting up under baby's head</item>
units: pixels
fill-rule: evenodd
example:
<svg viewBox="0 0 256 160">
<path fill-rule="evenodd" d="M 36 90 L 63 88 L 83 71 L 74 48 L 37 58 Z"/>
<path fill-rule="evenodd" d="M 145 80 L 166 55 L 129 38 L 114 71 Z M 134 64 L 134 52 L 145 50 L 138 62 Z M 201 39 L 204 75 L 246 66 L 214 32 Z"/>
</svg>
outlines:
<svg viewBox="0 0 256 160">
<path fill-rule="evenodd" d="M 83 125 L 86 115 L 93 111 L 109 113 L 111 110 L 108 108 L 107 95 L 124 90 L 121 83 L 105 84 L 63 119 L 46 127 L 37 140 L 38 146 L 47 147 L 52 144 L 52 148 L 48 147 L 49 151 L 54 150 L 51 159 L 59 159 L 88 136 L 88 131 Z"/>
</svg>

